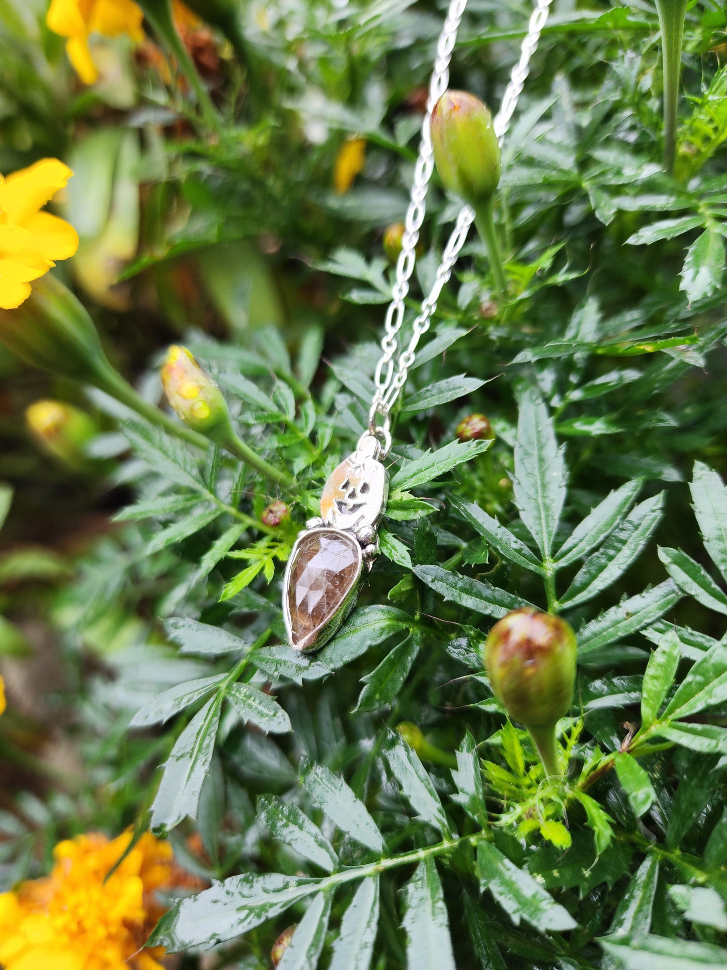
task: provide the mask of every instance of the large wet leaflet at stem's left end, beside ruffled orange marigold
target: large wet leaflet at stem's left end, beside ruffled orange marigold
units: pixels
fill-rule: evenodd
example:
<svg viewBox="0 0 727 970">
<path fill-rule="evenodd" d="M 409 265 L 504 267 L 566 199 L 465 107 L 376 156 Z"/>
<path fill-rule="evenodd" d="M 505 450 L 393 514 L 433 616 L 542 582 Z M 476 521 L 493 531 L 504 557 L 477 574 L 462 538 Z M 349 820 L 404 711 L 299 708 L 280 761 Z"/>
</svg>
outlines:
<svg viewBox="0 0 727 970">
<path fill-rule="evenodd" d="M 147 946 L 179 953 L 214 946 L 274 920 L 305 896 L 319 891 L 321 880 L 276 872 L 244 873 L 194 896 L 179 899 L 157 923 Z"/>
</svg>

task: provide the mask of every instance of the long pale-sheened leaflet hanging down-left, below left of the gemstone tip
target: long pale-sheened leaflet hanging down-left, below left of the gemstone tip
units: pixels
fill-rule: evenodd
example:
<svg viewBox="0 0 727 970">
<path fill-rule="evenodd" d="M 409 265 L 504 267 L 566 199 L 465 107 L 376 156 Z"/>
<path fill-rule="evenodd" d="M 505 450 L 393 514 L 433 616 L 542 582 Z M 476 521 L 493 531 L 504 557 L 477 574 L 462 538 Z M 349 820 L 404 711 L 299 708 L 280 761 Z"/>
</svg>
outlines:
<svg viewBox="0 0 727 970">
<path fill-rule="evenodd" d="M 212 697 L 179 735 L 151 806 L 151 830 L 155 835 L 166 835 L 187 816 L 196 818 L 214 751 L 220 706 L 218 698 Z"/>
</svg>

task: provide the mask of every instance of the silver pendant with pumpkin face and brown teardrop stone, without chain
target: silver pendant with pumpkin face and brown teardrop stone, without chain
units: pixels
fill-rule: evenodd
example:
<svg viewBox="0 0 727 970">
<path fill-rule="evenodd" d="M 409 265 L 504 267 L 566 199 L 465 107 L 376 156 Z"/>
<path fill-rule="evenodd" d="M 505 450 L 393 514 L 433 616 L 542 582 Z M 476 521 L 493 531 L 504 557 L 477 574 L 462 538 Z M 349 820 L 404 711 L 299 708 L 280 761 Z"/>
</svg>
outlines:
<svg viewBox="0 0 727 970">
<path fill-rule="evenodd" d="M 386 506 L 381 445 L 365 432 L 356 451 L 332 472 L 321 515 L 308 519 L 283 579 L 283 615 L 294 650 L 322 647 L 353 609 L 366 571 L 378 556 L 376 525 Z"/>
</svg>

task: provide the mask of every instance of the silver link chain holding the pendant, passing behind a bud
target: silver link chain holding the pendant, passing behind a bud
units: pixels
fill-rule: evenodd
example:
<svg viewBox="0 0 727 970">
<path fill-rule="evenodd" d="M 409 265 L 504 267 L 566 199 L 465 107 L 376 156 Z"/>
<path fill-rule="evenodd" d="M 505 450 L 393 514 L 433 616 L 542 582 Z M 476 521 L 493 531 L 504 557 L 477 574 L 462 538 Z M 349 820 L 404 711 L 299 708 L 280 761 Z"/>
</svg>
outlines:
<svg viewBox="0 0 727 970">
<path fill-rule="evenodd" d="M 500 145 L 502 145 L 505 133 L 510 126 L 513 113 L 515 113 L 518 105 L 522 85 L 530 70 L 530 58 L 538 46 L 540 34 L 548 19 L 552 3 L 553 0 L 537 0 L 535 9 L 530 16 L 527 34 L 522 39 L 520 60 L 513 68 L 510 81 L 505 90 L 505 96 L 502 99 L 502 106 L 493 122 L 495 134 Z M 452 51 L 455 48 L 455 41 L 457 40 L 459 21 L 461 20 L 466 5 L 467 0 L 451 0 L 442 32 L 437 41 L 437 54 L 434 61 L 434 69 L 431 74 L 431 81 L 429 82 L 427 113 L 422 122 L 422 141 L 419 146 L 419 157 L 417 158 L 417 164 L 414 169 L 414 182 L 411 189 L 409 208 L 406 211 L 406 218 L 404 220 L 401 252 L 396 261 L 393 299 L 387 308 L 386 319 L 384 320 L 385 334 L 381 341 L 381 349 L 384 352 L 374 372 L 376 392 L 368 413 L 368 430 L 381 441 L 381 457 L 388 453 L 392 445 L 392 407 L 406 383 L 407 374 L 416 358 L 417 344 L 422 335 L 426 334 L 429 329 L 431 317 L 437 307 L 439 294 L 442 292 L 442 287 L 448 281 L 450 275 L 452 275 L 452 270 L 458 259 L 459 250 L 464 245 L 469 227 L 472 225 L 475 217 L 474 210 L 469 206 L 463 206 L 459 210 L 457 223 L 452 235 L 447 241 L 447 245 L 444 247 L 442 261 L 437 268 L 434 283 L 422 304 L 418 316 L 414 320 L 412 325 L 413 333 L 409 344 L 406 350 L 398 356 L 395 372 L 394 358 L 398 347 L 397 334 L 401 330 L 404 322 L 404 301 L 409 292 L 409 280 L 414 272 L 419 231 L 422 228 L 425 212 L 427 211 L 427 187 L 434 169 L 433 151 L 431 147 L 431 113 L 437 101 L 445 93 L 449 85 L 450 60 L 452 59 Z"/>
</svg>

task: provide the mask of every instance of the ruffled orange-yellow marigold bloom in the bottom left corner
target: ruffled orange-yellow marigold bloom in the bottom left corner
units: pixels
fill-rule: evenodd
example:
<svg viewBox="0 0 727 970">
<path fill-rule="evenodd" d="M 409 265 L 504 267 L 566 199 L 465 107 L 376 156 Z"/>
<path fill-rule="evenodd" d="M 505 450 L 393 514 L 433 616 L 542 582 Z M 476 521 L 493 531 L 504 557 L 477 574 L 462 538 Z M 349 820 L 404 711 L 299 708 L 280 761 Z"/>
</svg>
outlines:
<svg viewBox="0 0 727 970">
<path fill-rule="evenodd" d="M 0 895 L 4 970 L 163 970 L 163 951 L 141 948 L 163 912 L 153 893 L 173 881 L 172 849 L 142 835 L 107 879 L 130 842 L 61 842 L 46 879 Z"/>
</svg>

